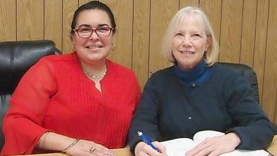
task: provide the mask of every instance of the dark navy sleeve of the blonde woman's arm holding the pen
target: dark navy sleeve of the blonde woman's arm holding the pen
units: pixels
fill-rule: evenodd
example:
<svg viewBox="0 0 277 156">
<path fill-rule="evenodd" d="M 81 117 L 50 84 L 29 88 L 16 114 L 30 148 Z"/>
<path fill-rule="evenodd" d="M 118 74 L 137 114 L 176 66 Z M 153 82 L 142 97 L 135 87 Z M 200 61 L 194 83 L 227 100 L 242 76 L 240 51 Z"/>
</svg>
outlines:
<svg viewBox="0 0 277 156">
<path fill-rule="evenodd" d="M 159 114 L 159 96 L 157 92 L 157 82 L 155 73 L 145 84 L 141 101 L 133 116 L 132 123 L 129 128 L 128 144 L 131 151 L 141 139 L 137 135 L 137 131 L 143 132 L 151 141 L 155 141 L 158 134 L 158 114 Z"/>
</svg>

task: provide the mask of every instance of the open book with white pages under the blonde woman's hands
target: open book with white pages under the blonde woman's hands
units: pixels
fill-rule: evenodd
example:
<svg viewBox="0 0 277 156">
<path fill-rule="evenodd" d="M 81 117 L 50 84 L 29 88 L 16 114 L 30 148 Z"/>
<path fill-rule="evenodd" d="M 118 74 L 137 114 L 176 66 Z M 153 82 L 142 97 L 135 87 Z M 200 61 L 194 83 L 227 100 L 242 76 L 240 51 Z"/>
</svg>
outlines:
<svg viewBox="0 0 277 156">
<path fill-rule="evenodd" d="M 206 137 L 217 137 L 224 135 L 223 132 L 213 130 L 204 130 L 197 132 L 193 139 L 179 138 L 168 141 L 163 141 L 161 144 L 166 146 L 166 154 L 168 156 L 184 156 L 186 152 L 204 141 Z M 269 153 L 265 150 L 233 150 L 230 153 L 224 153 L 220 156 L 268 156 Z"/>
</svg>

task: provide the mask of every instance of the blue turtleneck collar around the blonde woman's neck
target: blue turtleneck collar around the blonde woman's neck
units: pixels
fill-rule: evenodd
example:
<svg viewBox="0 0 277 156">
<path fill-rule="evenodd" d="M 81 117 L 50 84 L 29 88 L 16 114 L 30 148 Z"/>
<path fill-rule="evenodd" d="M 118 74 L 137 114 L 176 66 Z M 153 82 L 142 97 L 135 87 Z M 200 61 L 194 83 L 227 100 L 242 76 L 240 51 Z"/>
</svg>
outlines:
<svg viewBox="0 0 277 156">
<path fill-rule="evenodd" d="M 208 67 L 204 59 L 196 67 L 189 71 L 184 71 L 178 67 L 177 62 L 174 64 L 174 71 L 185 87 L 197 86 L 207 80 L 213 71 L 213 67 Z"/>
</svg>

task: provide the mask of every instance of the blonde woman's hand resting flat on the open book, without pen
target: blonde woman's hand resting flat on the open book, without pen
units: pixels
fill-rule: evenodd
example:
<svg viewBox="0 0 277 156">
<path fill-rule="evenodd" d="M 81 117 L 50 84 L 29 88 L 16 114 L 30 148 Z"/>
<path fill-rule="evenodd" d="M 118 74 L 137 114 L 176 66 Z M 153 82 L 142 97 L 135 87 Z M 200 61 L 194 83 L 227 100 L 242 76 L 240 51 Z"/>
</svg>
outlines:
<svg viewBox="0 0 277 156">
<path fill-rule="evenodd" d="M 186 156 L 217 156 L 229 153 L 240 144 L 240 137 L 234 132 L 220 137 L 209 137 L 186 153 Z"/>
</svg>

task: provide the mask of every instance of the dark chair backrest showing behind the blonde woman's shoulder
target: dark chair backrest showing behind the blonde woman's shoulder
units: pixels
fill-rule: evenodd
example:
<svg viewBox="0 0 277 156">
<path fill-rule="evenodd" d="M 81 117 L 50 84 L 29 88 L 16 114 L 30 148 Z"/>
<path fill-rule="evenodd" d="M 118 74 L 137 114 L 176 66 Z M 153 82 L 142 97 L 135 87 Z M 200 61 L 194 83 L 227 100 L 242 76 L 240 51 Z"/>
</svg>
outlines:
<svg viewBox="0 0 277 156">
<path fill-rule="evenodd" d="M 245 78 L 251 86 L 252 95 L 256 98 L 256 100 L 259 103 L 258 80 L 255 71 L 251 67 L 245 64 L 238 63 L 218 62 L 218 64 L 221 64 L 222 66 L 235 71 L 235 73 L 238 73 L 240 76 Z"/>
</svg>

